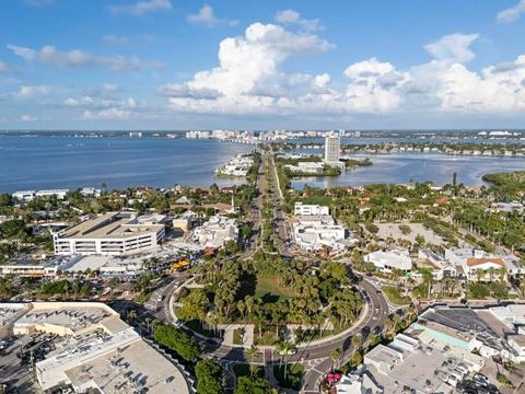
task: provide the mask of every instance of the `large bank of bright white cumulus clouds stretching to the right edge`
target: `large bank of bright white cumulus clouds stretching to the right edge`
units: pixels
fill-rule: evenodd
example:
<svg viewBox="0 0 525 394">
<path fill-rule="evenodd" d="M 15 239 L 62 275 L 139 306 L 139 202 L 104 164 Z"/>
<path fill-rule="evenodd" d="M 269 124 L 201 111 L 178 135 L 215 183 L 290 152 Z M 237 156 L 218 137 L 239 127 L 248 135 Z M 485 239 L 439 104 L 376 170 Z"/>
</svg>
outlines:
<svg viewBox="0 0 525 394">
<path fill-rule="evenodd" d="M 424 46 L 432 58 L 407 70 L 371 58 L 349 65 L 345 84 L 328 73 L 285 73 L 282 62 L 296 54 L 323 51 L 330 44 L 312 34 L 281 26 L 250 25 L 244 36 L 219 47 L 219 66 L 197 72 L 184 83 L 166 84 L 176 112 L 212 114 L 352 114 L 490 113 L 525 109 L 525 55 L 472 71 L 471 44 L 478 34 L 451 34 Z"/>
</svg>

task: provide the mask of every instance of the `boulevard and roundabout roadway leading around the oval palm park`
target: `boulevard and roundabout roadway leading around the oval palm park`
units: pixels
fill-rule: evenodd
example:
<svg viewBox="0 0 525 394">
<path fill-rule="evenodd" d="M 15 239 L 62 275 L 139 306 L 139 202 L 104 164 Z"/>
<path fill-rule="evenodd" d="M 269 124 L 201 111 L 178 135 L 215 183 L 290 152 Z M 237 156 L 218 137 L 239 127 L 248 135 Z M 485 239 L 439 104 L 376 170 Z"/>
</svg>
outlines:
<svg viewBox="0 0 525 394">
<path fill-rule="evenodd" d="M 288 246 L 289 239 L 287 235 L 287 217 L 281 209 L 282 199 L 280 197 L 277 172 L 275 171 L 273 160 L 268 160 L 270 167 L 266 167 L 266 162 L 268 158 L 262 158 L 261 167 L 259 169 L 258 178 L 257 178 L 257 195 L 252 205 L 250 212 L 248 218 L 253 224 L 253 235 L 249 241 L 249 247 L 245 251 L 243 255 L 238 255 L 238 258 L 249 258 L 259 248 L 260 240 L 260 230 L 261 230 L 261 205 L 262 196 L 260 190 L 262 190 L 264 175 L 268 171 L 270 173 L 271 185 L 269 187 L 270 200 L 273 205 L 273 223 L 275 223 L 275 239 L 277 240 L 278 251 L 282 255 L 292 256 L 292 253 Z M 160 289 L 153 296 L 155 298 L 155 311 L 156 317 L 164 322 L 174 323 L 173 316 L 170 312 L 170 300 L 173 292 L 180 286 L 182 280 L 185 279 L 185 276 L 177 275 L 176 278 L 167 286 Z M 247 355 L 247 349 L 242 347 L 233 347 L 225 345 L 220 341 L 220 339 L 205 338 L 200 335 L 195 335 L 196 340 L 199 341 L 203 351 L 214 359 L 220 360 L 223 363 L 236 363 L 236 362 L 255 362 L 258 364 L 268 364 L 268 355 L 271 355 L 271 360 L 273 363 L 279 363 L 287 359 L 288 362 L 301 362 L 305 367 L 305 375 L 303 379 L 303 390 L 304 393 L 318 393 L 319 384 L 324 375 L 332 369 L 332 359 L 331 354 L 335 349 L 341 349 L 342 354 L 339 360 L 339 363 L 348 361 L 352 354 L 352 344 L 351 339 L 355 335 L 362 335 L 365 337 L 370 333 L 380 334 L 383 329 L 383 323 L 385 318 L 389 315 L 390 311 L 388 304 L 383 297 L 382 292 L 369 280 L 365 278 L 360 278 L 357 287 L 363 293 L 368 308 L 365 308 L 365 313 L 360 316 L 355 324 L 336 335 L 331 338 L 322 339 L 312 344 L 300 345 L 298 347 L 298 352 L 290 356 L 280 356 L 273 351 L 270 347 L 260 347 L 260 351 L 257 356 L 250 359 Z M 266 356 L 266 357 L 265 357 Z"/>
</svg>

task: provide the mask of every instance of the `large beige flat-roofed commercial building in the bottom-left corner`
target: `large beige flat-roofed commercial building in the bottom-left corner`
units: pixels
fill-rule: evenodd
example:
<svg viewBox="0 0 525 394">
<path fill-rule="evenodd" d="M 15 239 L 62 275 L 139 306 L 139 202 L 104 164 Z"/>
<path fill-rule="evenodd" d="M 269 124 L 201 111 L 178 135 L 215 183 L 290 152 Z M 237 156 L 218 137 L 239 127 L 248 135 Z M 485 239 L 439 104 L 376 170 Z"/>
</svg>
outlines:
<svg viewBox="0 0 525 394">
<path fill-rule="evenodd" d="M 103 303 L 34 302 L 14 313 L 13 334 L 42 333 L 51 338 L 44 359 L 35 364 L 43 392 L 192 392 L 180 366 L 142 340 Z"/>
</svg>

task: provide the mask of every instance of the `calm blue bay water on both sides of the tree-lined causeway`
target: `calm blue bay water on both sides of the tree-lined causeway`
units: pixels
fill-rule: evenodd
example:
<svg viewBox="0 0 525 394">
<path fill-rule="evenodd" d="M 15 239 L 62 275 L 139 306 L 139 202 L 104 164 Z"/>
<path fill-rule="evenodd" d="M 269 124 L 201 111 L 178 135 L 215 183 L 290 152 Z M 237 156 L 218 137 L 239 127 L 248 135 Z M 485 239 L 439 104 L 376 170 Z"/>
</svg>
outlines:
<svg viewBox="0 0 525 394">
<path fill-rule="evenodd" d="M 128 186 L 172 187 L 220 186 L 243 182 L 217 178 L 213 170 L 253 146 L 215 140 L 166 138 L 74 138 L 1 137 L 0 193 L 23 189 Z M 313 151 L 310 151 L 313 152 Z M 316 151 L 318 153 L 320 151 Z M 355 155 L 364 157 L 364 155 Z M 431 181 L 441 185 L 452 181 L 469 186 L 482 184 L 490 172 L 525 170 L 525 159 L 447 157 L 429 153 L 371 155 L 372 166 L 358 167 L 338 177 L 312 177 L 294 181 L 318 187 L 359 186 L 369 183 L 409 183 Z"/>
</svg>

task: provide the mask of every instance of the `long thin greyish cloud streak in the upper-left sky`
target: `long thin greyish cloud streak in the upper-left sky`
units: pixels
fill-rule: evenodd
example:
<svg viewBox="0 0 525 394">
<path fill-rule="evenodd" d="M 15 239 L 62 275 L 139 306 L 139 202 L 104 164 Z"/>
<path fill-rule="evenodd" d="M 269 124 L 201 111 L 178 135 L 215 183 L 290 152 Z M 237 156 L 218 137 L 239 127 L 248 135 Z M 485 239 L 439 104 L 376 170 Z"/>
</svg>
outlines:
<svg viewBox="0 0 525 394">
<path fill-rule="evenodd" d="M 136 56 L 130 58 L 122 56 L 101 56 L 79 49 L 62 51 L 51 45 L 44 46 L 39 50 L 16 45 L 8 45 L 8 48 L 27 61 L 38 61 L 44 65 L 62 68 L 104 67 L 115 71 L 129 71 L 162 67 L 160 62 L 142 61 Z"/>
</svg>

